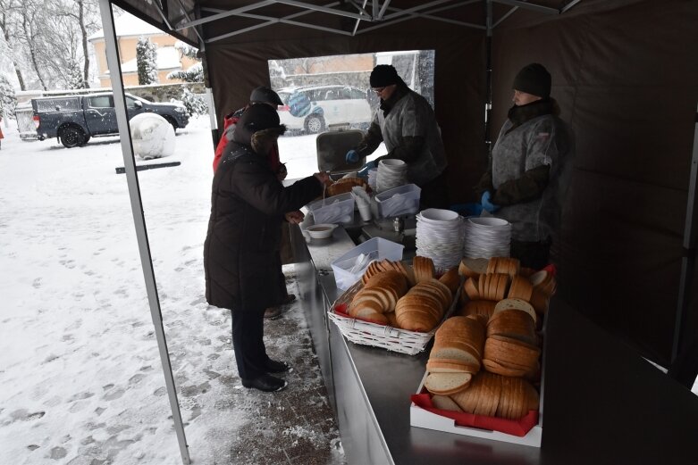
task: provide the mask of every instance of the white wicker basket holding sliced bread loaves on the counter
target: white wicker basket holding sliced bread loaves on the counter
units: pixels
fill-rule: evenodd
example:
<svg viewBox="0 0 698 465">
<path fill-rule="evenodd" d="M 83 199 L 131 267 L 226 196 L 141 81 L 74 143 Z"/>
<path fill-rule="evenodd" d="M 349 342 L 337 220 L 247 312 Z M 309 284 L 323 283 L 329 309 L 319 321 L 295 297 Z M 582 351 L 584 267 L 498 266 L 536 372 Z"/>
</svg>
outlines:
<svg viewBox="0 0 698 465">
<path fill-rule="evenodd" d="M 363 286 L 364 284 L 359 279 L 357 283 L 344 291 L 344 294 L 340 295 L 332 304 L 332 308 L 327 311 L 327 316 L 337 325 L 337 328 L 340 328 L 341 334 L 353 343 L 383 347 L 383 349 L 388 349 L 393 352 L 415 355 L 416 353 L 424 351 L 426 344 L 436 332 L 436 328 L 433 328 L 428 333 L 420 333 L 417 331 L 408 331 L 407 329 L 369 323 L 368 321 L 356 320 L 334 311 L 337 305 L 341 305 L 342 303 L 349 305 L 351 299 L 354 298 L 354 295 L 356 295 Z M 453 297 L 453 302 L 450 304 L 449 310 L 444 314 L 443 320 L 449 318 L 450 314 L 458 305 L 460 288 L 461 286 L 458 286 L 458 293 Z M 439 323 L 439 326 L 441 326 L 441 323 Z"/>
</svg>

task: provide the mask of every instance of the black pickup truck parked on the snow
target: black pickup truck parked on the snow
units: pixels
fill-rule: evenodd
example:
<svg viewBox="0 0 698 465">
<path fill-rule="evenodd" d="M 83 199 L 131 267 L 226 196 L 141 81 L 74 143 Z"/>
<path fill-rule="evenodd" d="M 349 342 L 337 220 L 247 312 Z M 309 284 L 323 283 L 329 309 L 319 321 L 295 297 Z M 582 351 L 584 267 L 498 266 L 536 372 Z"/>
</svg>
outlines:
<svg viewBox="0 0 698 465">
<path fill-rule="evenodd" d="M 33 98 L 31 107 L 39 140 L 58 137 L 71 148 L 87 144 L 93 136 L 119 133 L 112 93 Z M 187 110 L 180 104 L 154 104 L 126 94 L 126 108 L 129 120 L 142 112 L 154 112 L 168 120 L 175 131 L 189 123 Z"/>
</svg>

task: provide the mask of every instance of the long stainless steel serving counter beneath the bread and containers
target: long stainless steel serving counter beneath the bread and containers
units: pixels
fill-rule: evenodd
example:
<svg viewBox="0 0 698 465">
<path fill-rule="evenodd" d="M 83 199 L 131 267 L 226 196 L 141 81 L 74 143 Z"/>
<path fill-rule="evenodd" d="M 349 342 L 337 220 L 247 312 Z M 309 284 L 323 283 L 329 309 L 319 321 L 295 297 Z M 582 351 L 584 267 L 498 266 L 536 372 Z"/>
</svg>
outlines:
<svg viewBox="0 0 698 465">
<path fill-rule="evenodd" d="M 541 449 L 410 427 L 431 345 L 410 356 L 347 342 L 326 311 L 341 295 L 330 263 L 354 243 L 342 228 L 308 244 L 294 229 L 301 298 L 350 464 L 698 464 L 698 397 L 564 302 L 548 315 Z"/>
</svg>

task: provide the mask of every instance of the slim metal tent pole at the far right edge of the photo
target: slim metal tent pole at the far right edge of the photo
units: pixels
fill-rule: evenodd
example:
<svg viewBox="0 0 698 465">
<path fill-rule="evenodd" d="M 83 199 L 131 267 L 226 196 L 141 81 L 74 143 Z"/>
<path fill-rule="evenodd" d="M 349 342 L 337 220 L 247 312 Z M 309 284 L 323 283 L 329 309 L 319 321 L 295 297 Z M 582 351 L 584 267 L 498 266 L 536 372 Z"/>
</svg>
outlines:
<svg viewBox="0 0 698 465">
<path fill-rule="evenodd" d="M 688 306 L 691 291 L 691 281 L 694 275 L 695 263 L 695 234 L 694 207 L 695 184 L 698 179 L 698 108 L 695 112 L 694 153 L 691 158 L 691 178 L 688 179 L 688 197 L 685 205 L 684 228 L 684 257 L 681 259 L 681 278 L 678 282 L 677 316 L 674 323 L 674 341 L 671 347 L 671 362 L 676 358 L 681 345 L 681 327 L 684 322 L 685 309 Z"/>
</svg>

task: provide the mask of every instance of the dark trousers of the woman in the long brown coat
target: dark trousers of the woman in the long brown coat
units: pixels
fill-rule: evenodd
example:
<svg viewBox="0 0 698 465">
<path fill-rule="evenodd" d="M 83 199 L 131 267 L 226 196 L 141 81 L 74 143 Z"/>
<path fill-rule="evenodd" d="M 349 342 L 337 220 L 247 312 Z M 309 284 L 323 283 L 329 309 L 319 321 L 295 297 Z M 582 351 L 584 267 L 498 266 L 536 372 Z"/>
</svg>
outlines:
<svg viewBox="0 0 698 465">
<path fill-rule="evenodd" d="M 265 310 L 232 310 L 232 349 L 242 379 L 254 379 L 265 373 Z"/>
</svg>

